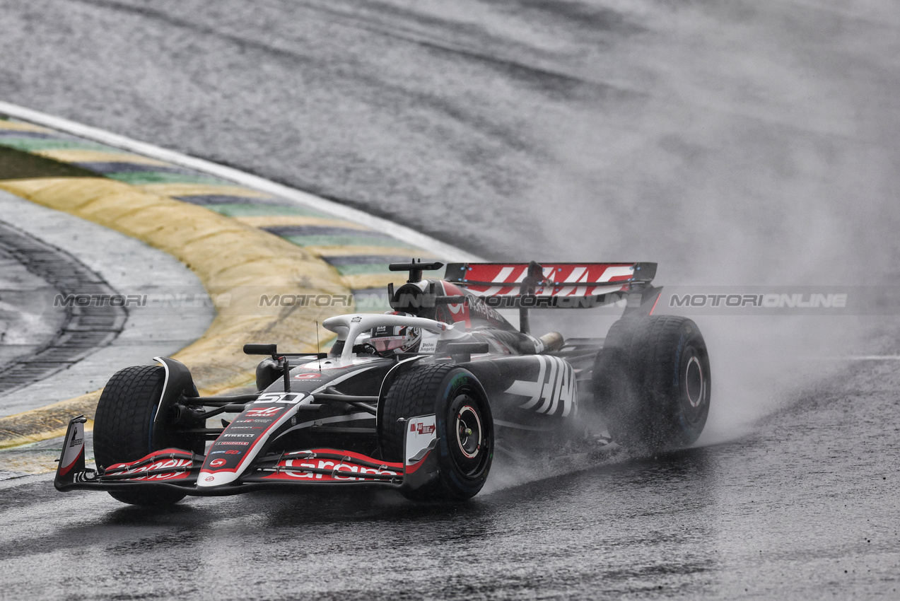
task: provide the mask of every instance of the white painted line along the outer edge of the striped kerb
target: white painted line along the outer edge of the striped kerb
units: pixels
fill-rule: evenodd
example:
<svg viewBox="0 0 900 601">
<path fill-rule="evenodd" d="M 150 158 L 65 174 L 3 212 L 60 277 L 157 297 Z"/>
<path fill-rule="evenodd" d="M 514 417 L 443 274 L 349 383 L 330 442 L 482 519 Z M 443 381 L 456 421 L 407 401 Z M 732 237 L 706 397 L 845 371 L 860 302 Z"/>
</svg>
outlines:
<svg viewBox="0 0 900 601">
<path fill-rule="evenodd" d="M 107 146 L 121 148 L 122 150 L 128 150 L 139 155 L 144 155 L 145 157 L 157 158 L 161 161 L 185 166 L 196 171 L 202 171 L 203 173 L 215 175 L 221 179 L 229 180 L 235 184 L 240 184 L 247 188 L 258 190 L 259 192 L 269 193 L 296 202 L 304 207 L 328 212 L 339 219 L 355 221 L 356 223 L 363 224 L 371 229 L 383 231 L 393 238 L 408 242 L 413 246 L 427 250 L 446 260 L 462 262 L 484 261 L 484 259 L 479 256 L 472 255 L 460 248 L 450 246 L 440 240 L 426 236 L 415 229 L 401 226 L 393 221 L 385 220 L 380 217 L 374 217 L 374 215 L 370 215 L 365 211 L 359 211 L 338 202 L 320 198 L 315 194 L 302 192 L 302 190 L 290 188 L 286 185 L 276 184 L 263 177 L 238 171 L 238 169 L 216 165 L 215 163 L 203 160 L 202 158 L 188 157 L 187 155 L 175 152 L 174 150 L 159 148 L 158 146 L 153 146 L 146 142 L 139 142 L 136 139 L 126 138 L 125 136 L 120 136 L 119 134 L 110 131 L 100 130 L 89 125 L 76 123 L 75 121 L 68 121 L 61 117 L 33 111 L 16 104 L 0 101 L 0 112 L 3 112 L 10 117 L 21 119 L 22 121 L 31 121 L 32 123 L 43 125 L 53 130 L 64 131 L 74 136 L 106 144 Z"/>
</svg>

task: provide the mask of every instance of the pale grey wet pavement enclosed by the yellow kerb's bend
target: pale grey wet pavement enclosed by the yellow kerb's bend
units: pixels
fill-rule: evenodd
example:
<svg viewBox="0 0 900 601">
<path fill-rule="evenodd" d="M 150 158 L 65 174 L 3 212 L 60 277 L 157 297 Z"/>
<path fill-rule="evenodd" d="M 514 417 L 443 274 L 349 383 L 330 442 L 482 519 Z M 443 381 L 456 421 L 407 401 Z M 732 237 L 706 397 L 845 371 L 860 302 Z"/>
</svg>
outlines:
<svg viewBox="0 0 900 601">
<path fill-rule="evenodd" d="M 157 355 L 173 354 L 202 336 L 204 330 L 209 327 L 213 318 L 211 308 L 183 308 L 177 311 L 177 315 L 173 315 L 171 308 L 140 308 L 132 304 L 128 308 L 124 327 L 121 323 L 112 323 L 121 329 L 117 336 L 112 336 L 110 320 L 105 311 L 101 311 L 98 315 L 90 315 L 89 313 L 102 308 L 88 307 L 86 311 L 69 309 L 81 314 L 71 319 L 68 327 L 76 331 L 82 330 L 89 336 L 85 336 L 86 340 L 84 338 L 72 340 L 71 332 L 60 329 L 63 326 L 66 309 L 54 308 L 54 297 L 61 293 L 58 289 L 68 292 L 90 291 L 103 284 L 122 294 L 148 294 L 163 298 L 166 295 L 193 296 L 196 293 L 203 293 L 202 284 L 174 257 L 111 229 L 40 207 L 2 191 L 0 191 L 0 211 L 4 215 L 4 220 L 13 223 L 17 229 L 23 230 L 31 238 L 42 241 L 32 243 L 31 254 L 26 256 L 40 263 L 32 266 L 33 270 L 40 274 L 49 273 L 48 280 L 55 281 L 57 286 L 57 289 L 50 290 L 49 284 L 42 287 L 35 285 L 18 298 L 6 295 L 7 302 L 15 301 L 33 318 L 29 323 L 27 336 L 17 331 L 14 324 L 7 326 L 5 331 L 8 337 L 4 338 L 4 344 L 30 341 L 32 345 L 36 345 L 31 349 L 31 354 L 46 352 L 40 349 L 50 345 L 47 351 L 55 354 L 58 361 L 64 359 L 66 354 L 54 350 L 53 345 L 67 346 L 75 343 L 74 350 L 78 355 L 82 357 L 85 354 L 89 355 L 77 363 L 68 364 L 66 369 L 52 376 L 45 375 L 40 381 L 33 381 L 24 388 L 6 390 L 0 395 L 0 415 L 6 416 L 43 407 L 49 403 L 97 390 L 109 379 L 112 372 L 130 364 L 152 363 L 152 357 Z M 78 268 L 77 265 L 71 267 L 65 263 L 60 265 L 59 260 L 47 261 L 47 257 L 41 256 L 44 252 L 42 249 L 52 251 L 53 248 L 65 248 L 69 254 L 77 258 L 76 263 L 83 266 Z M 23 258 L 21 252 L 17 255 L 17 258 Z M 68 260 L 72 261 L 71 258 Z M 49 271 L 50 268 L 53 268 L 55 273 Z M 83 281 L 78 285 L 72 281 L 76 269 L 81 272 Z M 19 273 L 20 270 L 4 269 L 5 277 Z M 32 290 L 40 294 L 34 296 Z M 97 319 L 98 317 L 100 319 Z M 45 330 L 41 330 L 40 327 Z M 46 331 L 45 336 L 36 336 L 42 331 Z M 109 337 L 113 338 L 112 342 Z M 107 345 L 96 345 L 104 342 Z M 16 346 L 12 348 L 18 350 Z M 77 355 L 69 356 L 74 359 Z M 10 357 L 3 358 L 8 360 Z M 25 357 L 20 356 L 19 359 L 24 360 Z M 27 367 L 28 363 L 35 359 L 38 359 L 35 363 L 40 363 L 38 355 L 32 356 L 24 365 Z M 10 363 L 4 365 L 4 368 L 9 367 Z M 34 367 L 40 369 L 40 365 Z"/>
</svg>

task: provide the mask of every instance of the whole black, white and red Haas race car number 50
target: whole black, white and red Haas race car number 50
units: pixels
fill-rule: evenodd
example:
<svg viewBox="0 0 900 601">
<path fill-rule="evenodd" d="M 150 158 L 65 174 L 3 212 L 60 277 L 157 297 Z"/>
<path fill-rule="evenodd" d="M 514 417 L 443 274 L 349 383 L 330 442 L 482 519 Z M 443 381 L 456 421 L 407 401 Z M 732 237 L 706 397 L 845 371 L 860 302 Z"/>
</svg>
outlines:
<svg viewBox="0 0 900 601">
<path fill-rule="evenodd" d="M 653 263 L 392 264 L 392 312 L 328 318 L 328 353 L 268 355 L 257 392 L 201 397 L 184 364 L 128 367 L 103 389 L 96 470 L 85 417 L 68 426 L 56 488 L 137 505 L 280 487 L 381 486 L 465 499 L 498 444 L 559 444 L 597 412 L 618 444 L 694 443 L 710 398 L 707 347 L 688 318 L 655 316 Z M 625 305 L 605 338 L 532 336 L 530 309 Z M 501 314 L 518 309 L 519 327 Z M 220 426 L 211 418 L 221 419 Z M 211 423 L 212 422 L 212 426 Z M 582 427 L 583 431 L 583 427 Z"/>
</svg>

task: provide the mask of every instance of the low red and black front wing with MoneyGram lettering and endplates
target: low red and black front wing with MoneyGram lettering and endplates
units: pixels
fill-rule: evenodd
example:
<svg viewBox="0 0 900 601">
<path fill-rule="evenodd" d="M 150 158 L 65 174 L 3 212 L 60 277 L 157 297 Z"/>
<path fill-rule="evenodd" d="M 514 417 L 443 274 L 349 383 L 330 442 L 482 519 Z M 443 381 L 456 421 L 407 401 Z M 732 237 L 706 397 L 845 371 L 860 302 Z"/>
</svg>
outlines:
<svg viewBox="0 0 900 601">
<path fill-rule="evenodd" d="M 383 462 L 362 453 L 317 448 L 258 457 L 236 480 L 220 486 L 197 486 L 205 456 L 183 449 L 162 449 L 135 462 L 98 471 L 85 467 L 84 416 L 68 424 L 54 486 L 58 490 L 139 490 L 153 486 L 186 495 L 217 497 L 260 489 L 369 485 L 416 490 L 437 478 L 434 416 L 411 417 L 404 440 L 404 462 Z M 422 423 L 426 427 L 417 427 Z M 211 476 L 206 476 L 211 478 Z"/>
</svg>

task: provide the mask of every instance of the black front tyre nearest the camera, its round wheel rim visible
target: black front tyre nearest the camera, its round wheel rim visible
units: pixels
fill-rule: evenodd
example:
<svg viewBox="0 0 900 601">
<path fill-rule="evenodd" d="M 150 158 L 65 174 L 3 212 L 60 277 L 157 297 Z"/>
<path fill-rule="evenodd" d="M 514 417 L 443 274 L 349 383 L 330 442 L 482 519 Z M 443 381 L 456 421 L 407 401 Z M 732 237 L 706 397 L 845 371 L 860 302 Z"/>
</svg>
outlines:
<svg viewBox="0 0 900 601">
<path fill-rule="evenodd" d="M 464 500 L 484 486 L 493 461 L 493 418 L 482 384 L 453 364 L 419 365 L 401 373 L 383 400 L 378 435 L 383 457 L 403 462 L 406 421 L 434 414 L 438 473 L 412 500 Z M 434 452 L 433 452 L 434 453 Z"/>
</svg>

